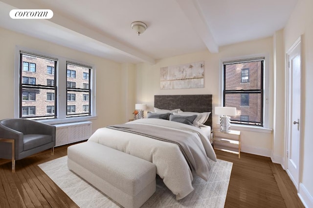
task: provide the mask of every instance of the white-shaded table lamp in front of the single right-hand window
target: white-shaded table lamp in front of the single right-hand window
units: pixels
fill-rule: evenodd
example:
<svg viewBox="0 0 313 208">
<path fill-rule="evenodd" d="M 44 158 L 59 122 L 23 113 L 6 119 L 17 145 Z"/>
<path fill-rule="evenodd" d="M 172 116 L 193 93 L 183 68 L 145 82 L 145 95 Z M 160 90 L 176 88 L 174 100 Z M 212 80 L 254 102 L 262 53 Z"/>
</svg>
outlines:
<svg viewBox="0 0 313 208">
<path fill-rule="evenodd" d="M 230 116 L 236 115 L 236 108 L 233 107 L 215 107 L 215 114 L 220 115 L 221 132 L 230 131 Z"/>
</svg>

